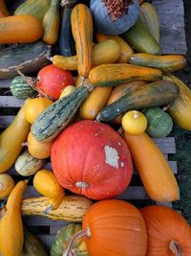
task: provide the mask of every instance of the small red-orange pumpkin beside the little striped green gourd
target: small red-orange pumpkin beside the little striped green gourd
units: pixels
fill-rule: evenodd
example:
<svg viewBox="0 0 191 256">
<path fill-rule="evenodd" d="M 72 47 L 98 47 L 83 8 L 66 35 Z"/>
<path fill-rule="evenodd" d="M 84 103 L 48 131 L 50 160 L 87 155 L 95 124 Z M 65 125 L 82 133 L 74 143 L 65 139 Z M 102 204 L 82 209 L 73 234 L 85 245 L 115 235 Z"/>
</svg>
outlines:
<svg viewBox="0 0 191 256">
<path fill-rule="evenodd" d="M 43 67 L 36 79 L 36 87 L 51 96 L 53 100 L 58 100 L 62 90 L 71 84 L 74 84 L 72 73 L 53 64 Z"/>
</svg>

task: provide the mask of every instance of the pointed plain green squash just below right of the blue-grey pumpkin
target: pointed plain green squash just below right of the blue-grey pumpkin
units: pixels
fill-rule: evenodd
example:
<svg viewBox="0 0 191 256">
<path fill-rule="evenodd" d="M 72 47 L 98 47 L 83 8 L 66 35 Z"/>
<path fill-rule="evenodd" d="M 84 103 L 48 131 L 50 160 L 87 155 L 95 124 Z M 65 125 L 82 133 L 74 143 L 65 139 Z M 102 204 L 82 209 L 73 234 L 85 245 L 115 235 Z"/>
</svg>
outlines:
<svg viewBox="0 0 191 256">
<path fill-rule="evenodd" d="M 131 47 L 138 53 L 161 55 L 161 47 L 157 40 L 151 35 L 138 20 L 127 32 L 122 34 Z"/>
</svg>

